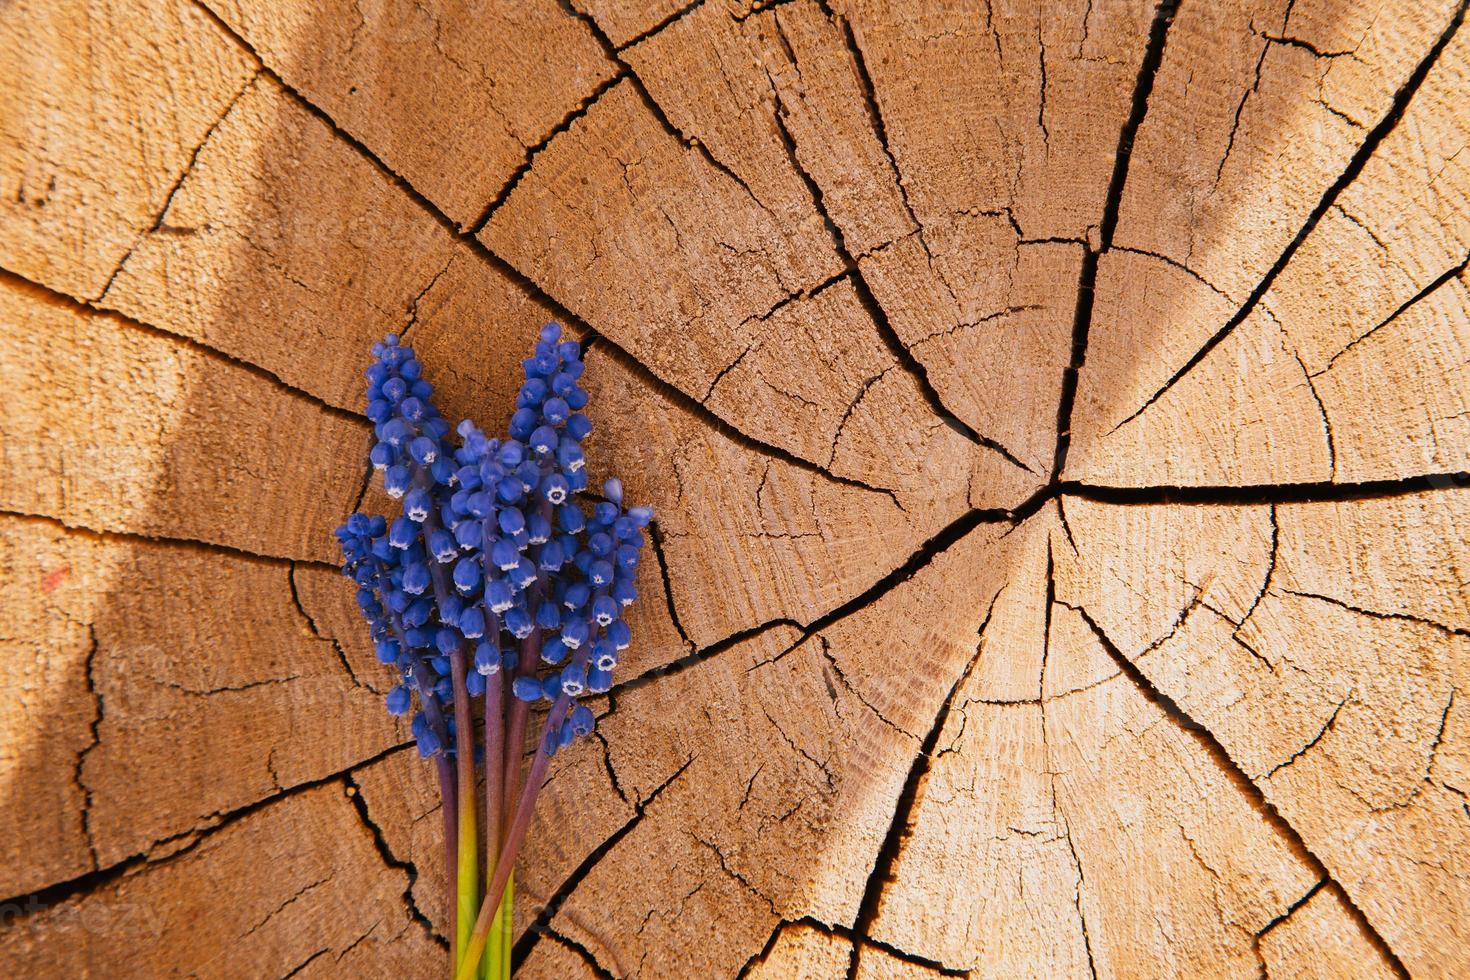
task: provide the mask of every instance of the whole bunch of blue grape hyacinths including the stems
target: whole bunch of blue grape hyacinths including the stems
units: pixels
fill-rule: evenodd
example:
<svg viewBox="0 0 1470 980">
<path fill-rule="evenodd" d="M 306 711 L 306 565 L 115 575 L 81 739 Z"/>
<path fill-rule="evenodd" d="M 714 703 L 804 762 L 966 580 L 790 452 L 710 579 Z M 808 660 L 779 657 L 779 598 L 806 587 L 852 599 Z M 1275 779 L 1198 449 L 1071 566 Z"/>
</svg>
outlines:
<svg viewBox="0 0 1470 980">
<path fill-rule="evenodd" d="M 616 479 L 591 507 L 579 501 L 592 425 L 581 345 L 563 341 L 556 323 L 522 363 L 514 413 L 495 438 L 467 419 L 450 428 L 397 335 L 372 353 L 370 460 L 401 513 L 351 514 L 337 529 L 343 572 L 357 586 L 378 660 L 397 671 L 388 713 L 412 714 L 419 752 L 438 771 L 451 976 L 509 977 L 516 854 L 551 755 L 595 726 L 581 699 L 612 688 L 632 642 L 623 614 L 638 598 L 653 511 L 625 507 Z M 542 708 L 522 773 L 532 713 Z"/>
</svg>

